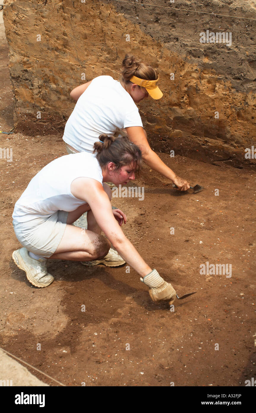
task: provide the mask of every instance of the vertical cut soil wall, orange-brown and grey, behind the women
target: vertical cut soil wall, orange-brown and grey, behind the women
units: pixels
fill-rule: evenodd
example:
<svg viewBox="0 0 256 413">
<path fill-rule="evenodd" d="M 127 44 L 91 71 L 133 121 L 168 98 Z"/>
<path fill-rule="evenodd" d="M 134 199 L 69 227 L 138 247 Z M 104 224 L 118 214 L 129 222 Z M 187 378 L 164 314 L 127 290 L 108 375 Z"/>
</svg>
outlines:
<svg viewBox="0 0 256 413">
<path fill-rule="evenodd" d="M 18 130 L 62 133 L 70 91 L 128 52 L 164 93 L 139 104 L 155 150 L 255 166 L 256 1 L 5 0 L 4 23 Z"/>
</svg>

